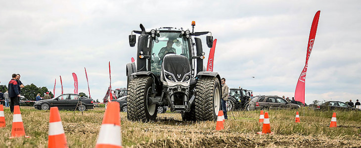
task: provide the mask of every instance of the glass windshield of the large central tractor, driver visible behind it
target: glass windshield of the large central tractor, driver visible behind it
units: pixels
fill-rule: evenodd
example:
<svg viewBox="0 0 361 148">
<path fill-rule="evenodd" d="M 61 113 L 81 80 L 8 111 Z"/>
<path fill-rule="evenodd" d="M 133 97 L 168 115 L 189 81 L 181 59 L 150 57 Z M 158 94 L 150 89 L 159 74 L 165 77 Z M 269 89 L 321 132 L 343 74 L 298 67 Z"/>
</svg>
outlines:
<svg viewBox="0 0 361 148">
<path fill-rule="evenodd" d="M 167 54 L 177 54 L 189 59 L 188 39 L 181 33 L 160 33 L 153 40 L 151 71 L 159 75 L 161 72 L 163 58 Z"/>
</svg>

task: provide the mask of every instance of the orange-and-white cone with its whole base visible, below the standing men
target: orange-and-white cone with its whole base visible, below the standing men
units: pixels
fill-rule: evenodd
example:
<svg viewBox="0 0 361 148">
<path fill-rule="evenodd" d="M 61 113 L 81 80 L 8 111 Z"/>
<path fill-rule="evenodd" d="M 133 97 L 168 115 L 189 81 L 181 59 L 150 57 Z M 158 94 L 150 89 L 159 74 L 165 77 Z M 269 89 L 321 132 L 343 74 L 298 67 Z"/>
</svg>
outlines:
<svg viewBox="0 0 361 148">
<path fill-rule="evenodd" d="M 25 136 L 25 138 L 30 137 L 25 135 L 25 129 L 23 124 L 23 119 L 21 118 L 20 107 L 14 106 L 14 115 L 12 118 L 12 129 L 11 129 L 10 139 L 16 137 L 23 137 L 23 136 Z"/>
</svg>

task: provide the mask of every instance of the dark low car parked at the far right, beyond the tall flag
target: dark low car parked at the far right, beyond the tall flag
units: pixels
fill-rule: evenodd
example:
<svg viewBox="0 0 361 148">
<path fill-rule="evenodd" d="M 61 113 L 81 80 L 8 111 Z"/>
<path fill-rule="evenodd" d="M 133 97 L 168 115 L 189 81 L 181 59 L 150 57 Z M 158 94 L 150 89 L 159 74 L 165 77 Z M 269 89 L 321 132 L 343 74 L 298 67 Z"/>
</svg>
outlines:
<svg viewBox="0 0 361 148">
<path fill-rule="evenodd" d="M 344 111 L 361 111 L 360 109 L 353 108 L 341 101 L 327 101 L 310 104 L 309 109 L 313 110 L 344 110 Z"/>
</svg>

